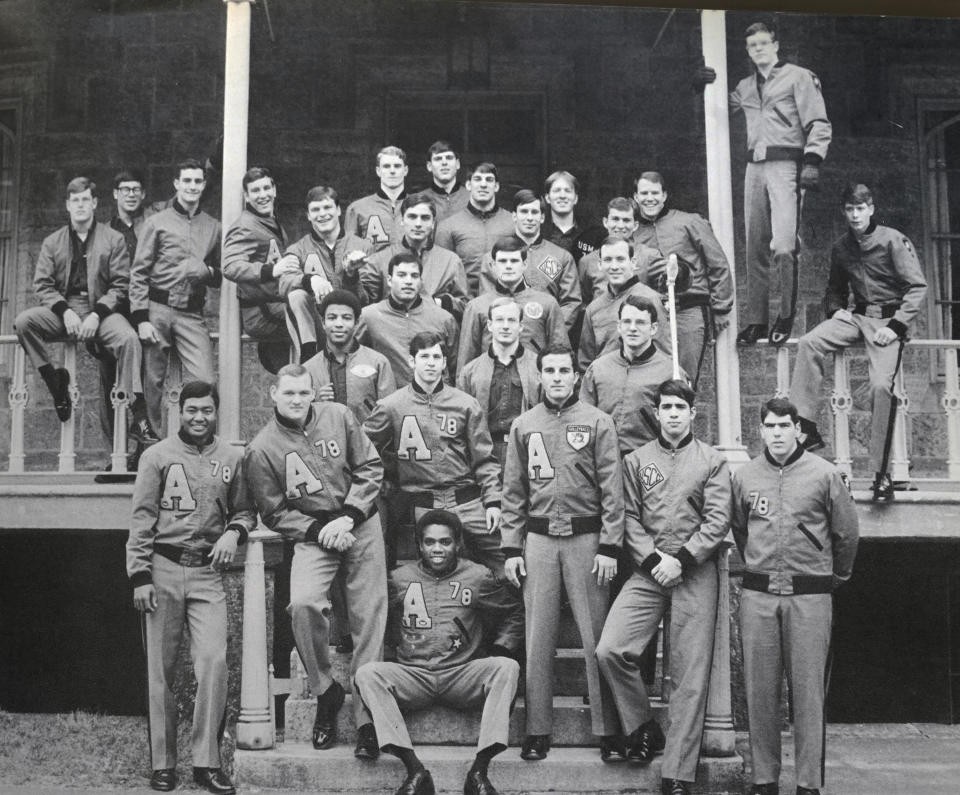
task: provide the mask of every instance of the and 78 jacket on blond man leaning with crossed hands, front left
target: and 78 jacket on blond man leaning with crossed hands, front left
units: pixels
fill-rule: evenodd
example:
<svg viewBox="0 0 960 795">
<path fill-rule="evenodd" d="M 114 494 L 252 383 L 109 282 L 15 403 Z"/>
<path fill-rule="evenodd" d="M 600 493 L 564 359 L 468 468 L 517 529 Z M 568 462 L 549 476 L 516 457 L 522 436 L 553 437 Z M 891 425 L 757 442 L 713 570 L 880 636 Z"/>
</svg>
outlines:
<svg viewBox="0 0 960 795">
<path fill-rule="evenodd" d="M 247 447 L 244 476 L 267 527 L 315 542 L 333 519 L 351 517 L 356 533 L 376 512 L 383 464 L 350 409 L 323 402 L 302 428 L 274 412 Z"/>
</svg>

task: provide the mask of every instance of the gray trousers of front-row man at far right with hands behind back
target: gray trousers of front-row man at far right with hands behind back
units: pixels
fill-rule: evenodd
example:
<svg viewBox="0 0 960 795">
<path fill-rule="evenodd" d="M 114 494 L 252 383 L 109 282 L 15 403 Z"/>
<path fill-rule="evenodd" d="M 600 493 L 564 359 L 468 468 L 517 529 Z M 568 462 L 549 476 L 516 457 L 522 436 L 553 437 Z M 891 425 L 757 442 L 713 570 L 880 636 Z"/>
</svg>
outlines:
<svg viewBox="0 0 960 795">
<path fill-rule="evenodd" d="M 793 701 L 797 786 L 823 786 L 823 702 L 832 621 L 830 594 L 743 591 L 740 634 L 754 784 L 780 780 L 780 682 L 786 670 Z"/>
</svg>

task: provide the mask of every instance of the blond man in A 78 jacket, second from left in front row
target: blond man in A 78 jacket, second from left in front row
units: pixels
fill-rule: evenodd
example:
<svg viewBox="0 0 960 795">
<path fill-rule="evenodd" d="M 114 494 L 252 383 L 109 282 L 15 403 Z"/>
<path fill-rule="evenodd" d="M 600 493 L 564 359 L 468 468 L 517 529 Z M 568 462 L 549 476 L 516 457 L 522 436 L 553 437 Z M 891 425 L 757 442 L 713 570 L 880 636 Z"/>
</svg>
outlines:
<svg viewBox="0 0 960 795">
<path fill-rule="evenodd" d="M 376 497 L 383 465 L 344 405 L 314 403 L 310 373 L 288 364 L 270 387 L 274 418 L 247 448 L 244 469 L 264 523 L 296 542 L 290 572 L 290 619 L 311 691 L 317 696 L 313 747 L 337 741 L 344 689 L 331 675 L 330 586 L 345 571 L 354 637 L 353 671 L 383 657 L 387 622 L 386 557 Z M 359 756 L 376 737 L 359 699 Z"/>
</svg>

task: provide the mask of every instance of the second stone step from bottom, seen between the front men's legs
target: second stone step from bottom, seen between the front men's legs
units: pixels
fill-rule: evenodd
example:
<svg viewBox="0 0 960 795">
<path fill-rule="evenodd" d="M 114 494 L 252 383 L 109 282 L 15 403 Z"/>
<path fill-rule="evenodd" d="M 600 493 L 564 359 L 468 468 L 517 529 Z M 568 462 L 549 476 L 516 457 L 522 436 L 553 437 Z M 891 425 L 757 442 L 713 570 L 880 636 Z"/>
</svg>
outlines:
<svg viewBox="0 0 960 795">
<path fill-rule="evenodd" d="M 347 696 L 340 709 L 338 733 L 341 745 L 352 746 L 357 741 L 353 718 L 353 696 Z M 654 715 L 661 725 L 666 720 L 666 706 L 659 700 L 651 702 Z M 290 698 L 286 704 L 284 736 L 291 742 L 309 742 L 313 719 L 317 711 L 315 699 Z M 407 714 L 407 730 L 414 744 L 472 746 L 480 732 L 480 708 L 458 710 L 435 706 Z M 517 699 L 510 717 L 510 742 L 523 741 L 526 708 L 523 698 Z M 590 707 L 578 696 L 555 696 L 553 699 L 553 744 L 563 746 L 595 746 L 598 740 L 590 728 Z"/>
</svg>

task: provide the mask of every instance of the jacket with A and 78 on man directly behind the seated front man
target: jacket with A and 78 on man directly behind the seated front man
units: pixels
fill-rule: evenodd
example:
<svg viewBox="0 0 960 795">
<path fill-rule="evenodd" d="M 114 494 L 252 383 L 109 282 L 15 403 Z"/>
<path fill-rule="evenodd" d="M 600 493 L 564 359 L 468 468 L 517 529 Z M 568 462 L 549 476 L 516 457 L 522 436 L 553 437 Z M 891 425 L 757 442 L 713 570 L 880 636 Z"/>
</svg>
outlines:
<svg viewBox="0 0 960 795">
<path fill-rule="evenodd" d="M 414 381 L 383 398 L 363 423 L 395 482 L 407 492 L 480 486 L 500 505 L 500 466 L 477 399 L 442 381 L 427 394 Z"/>
</svg>

